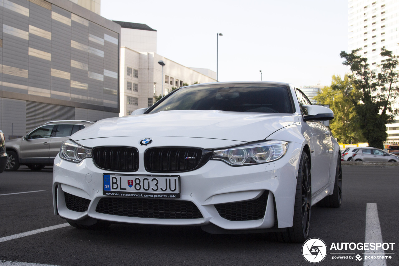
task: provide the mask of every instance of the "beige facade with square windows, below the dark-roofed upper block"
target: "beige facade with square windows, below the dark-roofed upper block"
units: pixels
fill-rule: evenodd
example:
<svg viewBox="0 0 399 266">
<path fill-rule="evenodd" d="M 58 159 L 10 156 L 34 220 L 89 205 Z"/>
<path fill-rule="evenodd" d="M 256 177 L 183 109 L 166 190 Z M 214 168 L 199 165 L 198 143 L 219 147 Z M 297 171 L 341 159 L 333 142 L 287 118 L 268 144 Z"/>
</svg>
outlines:
<svg viewBox="0 0 399 266">
<path fill-rule="evenodd" d="M 165 63 L 163 76 L 160 60 Z M 156 53 L 137 52 L 127 47 L 120 48 L 120 80 L 120 116 L 150 107 L 154 97 L 161 95 L 162 84 L 166 95 L 173 87 L 216 81 Z"/>
</svg>

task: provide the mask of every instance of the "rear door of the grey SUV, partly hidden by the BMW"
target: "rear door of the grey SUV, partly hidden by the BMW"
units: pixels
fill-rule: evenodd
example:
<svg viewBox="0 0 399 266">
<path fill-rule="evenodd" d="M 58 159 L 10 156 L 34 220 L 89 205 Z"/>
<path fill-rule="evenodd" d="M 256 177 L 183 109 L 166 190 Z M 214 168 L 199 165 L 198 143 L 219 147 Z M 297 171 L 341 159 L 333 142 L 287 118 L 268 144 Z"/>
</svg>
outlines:
<svg viewBox="0 0 399 266">
<path fill-rule="evenodd" d="M 77 124 L 58 124 L 54 128 L 53 137 L 50 141 L 49 147 L 49 157 L 50 163 L 54 161 L 55 156 L 59 153 L 59 149 L 61 148 L 61 144 L 63 141 L 69 139 L 69 137 L 81 130 L 84 129 L 84 125 L 77 125 Z"/>
</svg>

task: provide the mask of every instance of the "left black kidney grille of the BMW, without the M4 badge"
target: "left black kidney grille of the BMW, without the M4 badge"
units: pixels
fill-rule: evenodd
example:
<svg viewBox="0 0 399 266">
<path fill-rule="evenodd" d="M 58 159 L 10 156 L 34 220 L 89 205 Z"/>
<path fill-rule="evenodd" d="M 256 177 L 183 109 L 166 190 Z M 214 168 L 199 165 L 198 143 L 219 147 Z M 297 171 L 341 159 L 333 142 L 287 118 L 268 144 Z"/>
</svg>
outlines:
<svg viewBox="0 0 399 266">
<path fill-rule="evenodd" d="M 138 150 L 132 147 L 95 147 L 93 160 L 97 167 L 122 172 L 138 169 Z"/>
</svg>

